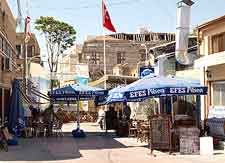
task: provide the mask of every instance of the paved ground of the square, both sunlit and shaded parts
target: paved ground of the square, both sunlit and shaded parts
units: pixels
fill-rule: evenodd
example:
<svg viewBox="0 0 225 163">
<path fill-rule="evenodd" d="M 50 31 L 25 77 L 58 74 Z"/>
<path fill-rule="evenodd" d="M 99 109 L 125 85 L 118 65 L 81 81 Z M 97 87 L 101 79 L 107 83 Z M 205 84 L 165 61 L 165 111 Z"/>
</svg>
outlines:
<svg viewBox="0 0 225 163">
<path fill-rule="evenodd" d="M 134 138 L 117 138 L 113 132 L 105 134 L 94 124 L 82 124 L 87 138 L 74 139 L 74 124 L 63 126 L 64 137 L 20 139 L 20 145 L 10 147 L 9 152 L 0 151 L 0 162 L 76 162 L 76 163 L 211 163 L 225 162 L 224 151 L 214 156 L 168 155 L 156 151 L 156 157 L 147 155 L 146 144 Z M 96 132 L 97 131 L 97 132 Z"/>
</svg>

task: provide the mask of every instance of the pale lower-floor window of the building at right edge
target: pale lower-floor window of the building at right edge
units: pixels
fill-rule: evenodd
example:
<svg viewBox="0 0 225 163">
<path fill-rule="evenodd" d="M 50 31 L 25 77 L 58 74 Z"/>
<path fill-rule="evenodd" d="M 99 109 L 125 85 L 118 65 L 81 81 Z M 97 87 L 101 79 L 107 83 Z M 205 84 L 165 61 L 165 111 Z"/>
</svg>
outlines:
<svg viewBox="0 0 225 163">
<path fill-rule="evenodd" d="M 225 81 L 212 83 L 212 105 L 225 106 Z"/>
</svg>

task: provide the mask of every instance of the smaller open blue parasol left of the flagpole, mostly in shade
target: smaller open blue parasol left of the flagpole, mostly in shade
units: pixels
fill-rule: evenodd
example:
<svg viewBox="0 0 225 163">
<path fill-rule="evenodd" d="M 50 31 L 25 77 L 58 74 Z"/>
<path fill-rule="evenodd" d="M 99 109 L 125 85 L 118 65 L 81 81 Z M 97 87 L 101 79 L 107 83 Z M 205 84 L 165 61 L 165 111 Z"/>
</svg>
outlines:
<svg viewBox="0 0 225 163">
<path fill-rule="evenodd" d="M 49 97 L 55 101 L 82 101 L 89 100 L 96 96 L 106 96 L 107 90 L 91 87 L 82 84 L 68 85 L 49 92 Z"/>
</svg>

